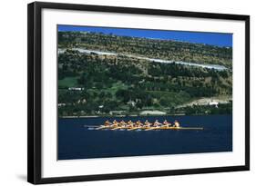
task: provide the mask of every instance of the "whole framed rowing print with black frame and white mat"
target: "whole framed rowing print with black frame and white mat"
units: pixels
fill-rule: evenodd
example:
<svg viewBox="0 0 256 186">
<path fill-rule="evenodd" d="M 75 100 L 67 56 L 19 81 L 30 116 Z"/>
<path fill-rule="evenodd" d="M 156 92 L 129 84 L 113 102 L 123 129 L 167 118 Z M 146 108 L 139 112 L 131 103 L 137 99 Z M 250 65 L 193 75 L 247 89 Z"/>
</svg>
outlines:
<svg viewBox="0 0 256 186">
<path fill-rule="evenodd" d="M 28 181 L 248 171 L 250 16 L 28 5 Z"/>
</svg>

